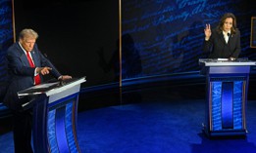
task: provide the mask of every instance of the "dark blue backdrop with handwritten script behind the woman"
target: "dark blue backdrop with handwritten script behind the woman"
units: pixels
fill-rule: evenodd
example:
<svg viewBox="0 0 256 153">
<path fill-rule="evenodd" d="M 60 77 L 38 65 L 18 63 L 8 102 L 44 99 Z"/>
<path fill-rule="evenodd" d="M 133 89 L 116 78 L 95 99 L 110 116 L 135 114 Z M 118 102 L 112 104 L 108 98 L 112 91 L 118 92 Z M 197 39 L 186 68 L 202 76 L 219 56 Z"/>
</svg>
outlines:
<svg viewBox="0 0 256 153">
<path fill-rule="evenodd" d="M 250 51 L 253 10 L 242 0 L 123 0 L 123 79 L 181 73 L 199 69 L 204 27 L 214 28 L 233 13 L 241 31 L 240 57 Z"/>
</svg>

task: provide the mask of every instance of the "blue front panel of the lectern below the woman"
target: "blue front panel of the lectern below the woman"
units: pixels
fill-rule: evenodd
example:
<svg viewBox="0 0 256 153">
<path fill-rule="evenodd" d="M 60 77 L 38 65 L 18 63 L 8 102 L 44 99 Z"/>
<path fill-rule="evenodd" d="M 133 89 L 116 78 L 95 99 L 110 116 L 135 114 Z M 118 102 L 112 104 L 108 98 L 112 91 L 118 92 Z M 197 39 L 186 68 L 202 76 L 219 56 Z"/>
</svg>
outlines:
<svg viewBox="0 0 256 153">
<path fill-rule="evenodd" d="M 242 130 L 244 81 L 214 81 L 212 85 L 212 129 Z"/>
</svg>

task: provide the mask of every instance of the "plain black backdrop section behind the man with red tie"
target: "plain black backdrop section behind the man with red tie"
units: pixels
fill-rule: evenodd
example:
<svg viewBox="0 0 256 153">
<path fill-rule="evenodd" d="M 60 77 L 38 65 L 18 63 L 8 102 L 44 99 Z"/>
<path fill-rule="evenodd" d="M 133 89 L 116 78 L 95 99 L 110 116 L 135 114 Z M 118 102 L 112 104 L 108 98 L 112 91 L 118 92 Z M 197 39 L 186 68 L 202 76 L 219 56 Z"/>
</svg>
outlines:
<svg viewBox="0 0 256 153">
<path fill-rule="evenodd" d="M 15 0 L 17 34 L 36 30 L 41 52 L 62 73 L 87 76 L 86 87 L 113 81 L 98 53 L 108 59 L 116 49 L 118 13 L 118 0 Z"/>
</svg>

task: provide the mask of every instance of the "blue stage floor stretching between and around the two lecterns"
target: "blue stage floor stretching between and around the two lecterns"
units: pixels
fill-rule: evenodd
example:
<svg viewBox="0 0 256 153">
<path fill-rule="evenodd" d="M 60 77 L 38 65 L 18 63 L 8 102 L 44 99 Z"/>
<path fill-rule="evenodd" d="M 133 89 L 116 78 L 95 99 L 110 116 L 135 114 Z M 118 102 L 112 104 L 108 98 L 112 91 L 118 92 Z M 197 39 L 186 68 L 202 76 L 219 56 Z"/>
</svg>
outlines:
<svg viewBox="0 0 256 153">
<path fill-rule="evenodd" d="M 247 103 L 245 138 L 209 139 L 202 133 L 205 100 L 203 94 L 195 95 L 202 91 L 193 89 L 158 88 L 81 98 L 77 115 L 81 152 L 256 152 L 256 100 Z M 13 153 L 13 134 L 4 123 L 0 152 Z"/>
</svg>

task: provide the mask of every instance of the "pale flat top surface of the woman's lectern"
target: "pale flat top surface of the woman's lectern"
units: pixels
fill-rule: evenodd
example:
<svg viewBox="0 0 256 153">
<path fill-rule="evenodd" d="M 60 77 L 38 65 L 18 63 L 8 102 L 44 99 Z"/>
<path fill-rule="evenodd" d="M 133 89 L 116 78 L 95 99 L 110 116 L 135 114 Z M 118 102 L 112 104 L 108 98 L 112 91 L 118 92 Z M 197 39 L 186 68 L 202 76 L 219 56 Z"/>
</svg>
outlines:
<svg viewBox="0 0 256 153">
<path fill-rule="evenodd" d="M 249 66 L 256 65 L 256 61 L 248 58 L 236 58 L 235 60 L 230 60 L 229 58 L 200 58 L 199 64 L 204 64 L 205 66 Z"/>
</svg>

